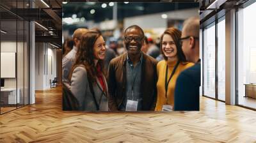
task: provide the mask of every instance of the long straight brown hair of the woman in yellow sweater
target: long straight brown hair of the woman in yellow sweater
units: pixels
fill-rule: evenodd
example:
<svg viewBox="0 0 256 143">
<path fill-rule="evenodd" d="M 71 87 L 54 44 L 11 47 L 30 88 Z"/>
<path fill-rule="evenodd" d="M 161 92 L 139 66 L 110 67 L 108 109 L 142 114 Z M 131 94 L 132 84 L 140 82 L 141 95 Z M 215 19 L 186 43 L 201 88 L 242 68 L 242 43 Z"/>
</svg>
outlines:
<svg viewBox="0 0 256 143">
<path fill-rule="evenodd" d="M 162 41 L 163 41 L 164 34 L 168 34 L 168 35 L 172 36 L 172 39 L 173 39 L 173 41 L 176 45 L 176 48 L 177 48 L 178 60 L 182 61 L 182 62 L 186 62 L 186 57 L 185 57 L 185 55 L 184 55 L 184 53 L 181 49 L 181 45 L 180 45 L 180 42 L 179 42 L 179 39 L 180 39 L 180 36 L 181 36 L 181 31 L 179 31 L 179 29 L 176 29 L 175 27 L 170 27 L 170 28 L 166 29 L 164 31 L 164 33 L 161 35 L 160 51 L 163 54 L 164 60 L 167 60 L 167 57 L 164 55 L 164 52 L 163 52 L 163 49 L 162 49 Z"/>
</svg>

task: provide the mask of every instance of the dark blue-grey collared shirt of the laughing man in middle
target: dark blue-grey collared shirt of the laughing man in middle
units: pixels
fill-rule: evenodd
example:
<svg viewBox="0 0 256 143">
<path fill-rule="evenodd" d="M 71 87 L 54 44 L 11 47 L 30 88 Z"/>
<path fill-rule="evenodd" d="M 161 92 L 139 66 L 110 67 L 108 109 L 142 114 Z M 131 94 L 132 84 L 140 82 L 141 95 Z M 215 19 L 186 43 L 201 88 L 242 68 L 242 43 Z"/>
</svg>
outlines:
<svg viewBox="0 0 256 143">
<path fill-rule="evenodd" d="M 140 61 L 133 66 L 131 59 L 129 59 L 127 54 L 126 60 L 126 91 L 125 91 L 125 99 L 121 105 L 121 110 L 125 110 L 125 106 L 127 100 L 138 101 L 138 109 L 141 110 L 142 107 L 142 98 L 141 98 L 141 68 L 142 68 L 142 60 L 143 55 L 140 56 Z M 133 94 L 132 94 L 133 93 Z"/>
</svg>

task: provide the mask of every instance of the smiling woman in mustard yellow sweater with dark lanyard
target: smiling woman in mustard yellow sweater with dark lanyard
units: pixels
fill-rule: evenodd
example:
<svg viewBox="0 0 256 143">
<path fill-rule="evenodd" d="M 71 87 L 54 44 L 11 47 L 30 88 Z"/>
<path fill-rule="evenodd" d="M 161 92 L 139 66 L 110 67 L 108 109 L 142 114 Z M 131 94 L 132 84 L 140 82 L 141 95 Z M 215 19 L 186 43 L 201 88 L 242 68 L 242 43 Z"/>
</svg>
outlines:
<svg viewBox="0 0 256 143">
<path fill-rule="evenodd" d="M 177 77 L 193 63 L 186 62 L 180 47 L 181 32 L 170 27 L 161 35 L 161 52 L 164 60 L 157 64 L 157 103 L 156 111 L 171 111 L 174 104 L 174 89 Z"/>
</svg>

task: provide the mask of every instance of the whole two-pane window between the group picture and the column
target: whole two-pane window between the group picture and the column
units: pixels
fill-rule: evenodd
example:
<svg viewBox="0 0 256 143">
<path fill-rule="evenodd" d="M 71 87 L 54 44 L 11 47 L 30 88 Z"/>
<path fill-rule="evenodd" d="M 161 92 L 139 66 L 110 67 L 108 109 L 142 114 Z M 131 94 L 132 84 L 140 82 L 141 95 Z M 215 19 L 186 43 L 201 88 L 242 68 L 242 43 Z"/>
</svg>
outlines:
<svg viewBox="0 0 256 143">
<path fill-rule="evenodd" d="M 202 31 L 203 95 L 225 102 L 225 16 Z"/>
</svg>

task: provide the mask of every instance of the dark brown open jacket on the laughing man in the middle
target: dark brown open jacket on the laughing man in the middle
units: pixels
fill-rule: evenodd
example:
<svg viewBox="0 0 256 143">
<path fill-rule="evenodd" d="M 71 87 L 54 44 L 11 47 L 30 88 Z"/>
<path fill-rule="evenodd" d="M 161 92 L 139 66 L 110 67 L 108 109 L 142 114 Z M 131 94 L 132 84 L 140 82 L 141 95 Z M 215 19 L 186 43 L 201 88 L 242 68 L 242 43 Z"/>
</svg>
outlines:
<svg viewBox="0 0 256 143">
<path fill-rule="evenodd" d="M 143 53 L 143 52 L 142 52 Z M 111 111 L 120 110 L 125 99 L 127 53 L 112 59 L 108 70 L 108 105 Z M 141 69 L 142 110 L 154 110 L 157 99 L 157 61 L 143 53 Z"/>
</svg>

